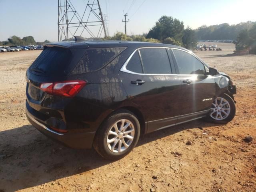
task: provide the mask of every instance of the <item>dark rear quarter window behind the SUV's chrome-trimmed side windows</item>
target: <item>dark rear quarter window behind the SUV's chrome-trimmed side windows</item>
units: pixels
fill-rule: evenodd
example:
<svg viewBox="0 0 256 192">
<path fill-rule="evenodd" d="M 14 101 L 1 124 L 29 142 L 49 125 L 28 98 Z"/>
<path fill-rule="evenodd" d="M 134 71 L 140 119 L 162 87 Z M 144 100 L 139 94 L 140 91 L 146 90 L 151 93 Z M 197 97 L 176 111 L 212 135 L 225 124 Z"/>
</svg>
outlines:
<svg viewBox="0 0 256 192">
<path fill-rule="evenodd" d="M 124 47 L 95 48 L 86 50 L 71 74 L 86 73 L 98 70 L 116 57 Z"/>
</svg>

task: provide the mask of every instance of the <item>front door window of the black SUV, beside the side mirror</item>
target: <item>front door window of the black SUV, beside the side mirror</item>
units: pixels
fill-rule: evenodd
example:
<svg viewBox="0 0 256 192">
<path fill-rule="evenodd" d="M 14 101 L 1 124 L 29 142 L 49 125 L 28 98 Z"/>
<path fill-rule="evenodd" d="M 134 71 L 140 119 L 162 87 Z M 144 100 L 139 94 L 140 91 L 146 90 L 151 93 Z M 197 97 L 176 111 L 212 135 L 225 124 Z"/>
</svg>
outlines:
<svg viewBox="0 0 256 192">
<path fill-rule="evenodd" d="M 173 49 L 173 52 L 180 74 L 205 74 L 204 65 L 196 57 L 187 52 L 176 49 Z"/>
</svg>

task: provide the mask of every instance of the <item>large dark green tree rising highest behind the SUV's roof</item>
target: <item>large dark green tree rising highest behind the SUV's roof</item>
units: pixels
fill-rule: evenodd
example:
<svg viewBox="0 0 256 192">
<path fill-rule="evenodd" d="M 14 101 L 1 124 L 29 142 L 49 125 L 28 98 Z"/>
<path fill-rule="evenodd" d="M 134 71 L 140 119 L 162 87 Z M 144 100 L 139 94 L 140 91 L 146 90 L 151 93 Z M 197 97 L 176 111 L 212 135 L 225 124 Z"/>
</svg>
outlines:
<svg viewBox="0 0 256 192">
<path fill-rule="evenodd" d="M 184 25 L 182 21 L 174 19 L 172 16 L 162 16 L 148 32 L 146 38 L 154 38 L 163 41 L 171 37 L 181 42 L 183 30 Z"/>
</svg>

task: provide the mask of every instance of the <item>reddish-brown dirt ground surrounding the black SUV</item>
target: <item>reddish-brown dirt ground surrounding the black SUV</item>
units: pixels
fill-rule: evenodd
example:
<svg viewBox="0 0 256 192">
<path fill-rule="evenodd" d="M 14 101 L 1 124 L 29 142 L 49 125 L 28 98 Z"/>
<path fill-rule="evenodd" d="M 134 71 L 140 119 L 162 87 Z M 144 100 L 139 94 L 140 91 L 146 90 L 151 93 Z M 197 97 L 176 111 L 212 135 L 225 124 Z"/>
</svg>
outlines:
<svg viewBox="0 0 256 192">
<path fill-rule="evenodd" d="M 236 84 L 234 120 L 148 134 L 115 162 L 63 147 L 31 126 L 25 72 L 41 51 L 0 53 L 0 192 L 256 192 L 256 56 L 233 56 L 233 44 L 217 44 L 222 51 L 195 53 Z"/>
</svg>

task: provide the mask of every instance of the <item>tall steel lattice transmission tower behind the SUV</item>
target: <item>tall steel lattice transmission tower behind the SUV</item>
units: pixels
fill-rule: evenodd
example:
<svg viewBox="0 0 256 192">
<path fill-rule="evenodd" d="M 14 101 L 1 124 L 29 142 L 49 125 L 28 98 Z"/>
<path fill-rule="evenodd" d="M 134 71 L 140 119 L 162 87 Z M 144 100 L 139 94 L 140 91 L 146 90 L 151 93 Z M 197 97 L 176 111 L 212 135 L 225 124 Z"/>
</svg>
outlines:
<svg viewBox="0 0 256 192">
<path fill-rule="evenodd" d="M 82 17 L 71 0 L 58 0 L 58 41 L 69 40 L 74 36 L 97 39 L 100 38 L 103 30 L 106 37 L 106 28 L 98 0 L 88 0 Z"/>
</svg>

